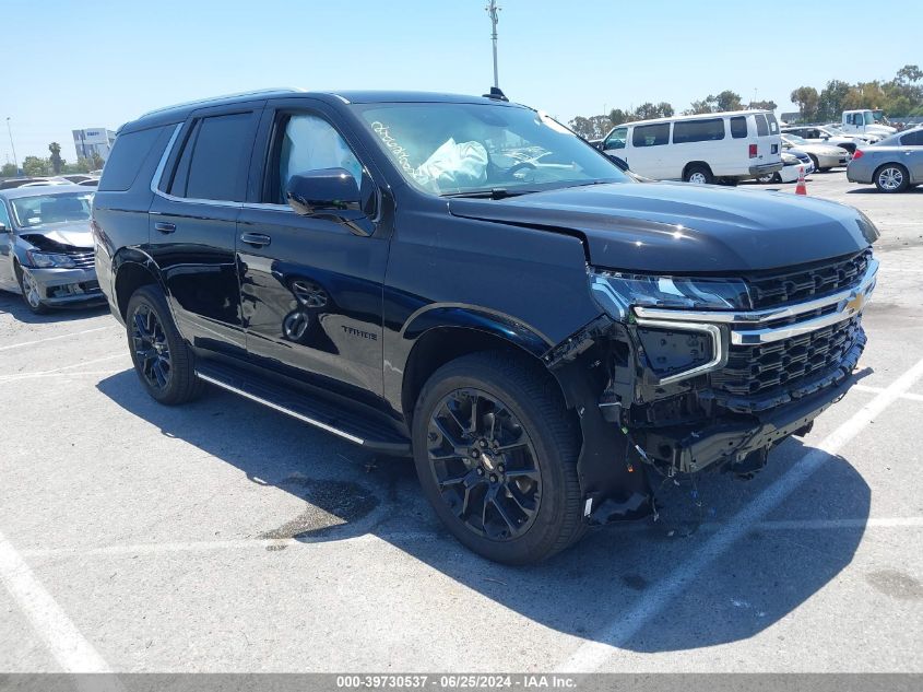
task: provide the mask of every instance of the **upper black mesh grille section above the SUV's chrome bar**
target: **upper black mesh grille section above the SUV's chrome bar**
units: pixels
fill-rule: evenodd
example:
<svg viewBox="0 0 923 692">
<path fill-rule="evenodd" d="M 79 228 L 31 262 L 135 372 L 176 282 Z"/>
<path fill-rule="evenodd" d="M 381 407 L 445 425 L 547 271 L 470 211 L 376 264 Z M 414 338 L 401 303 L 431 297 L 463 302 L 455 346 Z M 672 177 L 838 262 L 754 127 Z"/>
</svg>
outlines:
<svg viewBox="0 0 923 692">
<path fill-rule="evenodd" d="M 755 309 L 798 303 L 842 291 L 865 273 L 872 250 L 833 260 L 747 277 Z"/>
</svg>

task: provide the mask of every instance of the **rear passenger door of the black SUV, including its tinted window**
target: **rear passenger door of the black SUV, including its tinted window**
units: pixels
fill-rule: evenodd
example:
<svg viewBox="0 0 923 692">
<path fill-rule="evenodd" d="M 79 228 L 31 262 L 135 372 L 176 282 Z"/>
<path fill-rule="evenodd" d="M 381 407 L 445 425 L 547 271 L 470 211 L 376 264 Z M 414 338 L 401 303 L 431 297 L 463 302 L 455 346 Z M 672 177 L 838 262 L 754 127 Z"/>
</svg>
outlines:
<svg viewBox="0 0 923 692">
<path fill-rule="evenodd" d="M 193 113 L 151 206 L 151 256 L 180 333 L 204 351 L 246 353 L 235 249 L 262 105 Z"/>
</svg>

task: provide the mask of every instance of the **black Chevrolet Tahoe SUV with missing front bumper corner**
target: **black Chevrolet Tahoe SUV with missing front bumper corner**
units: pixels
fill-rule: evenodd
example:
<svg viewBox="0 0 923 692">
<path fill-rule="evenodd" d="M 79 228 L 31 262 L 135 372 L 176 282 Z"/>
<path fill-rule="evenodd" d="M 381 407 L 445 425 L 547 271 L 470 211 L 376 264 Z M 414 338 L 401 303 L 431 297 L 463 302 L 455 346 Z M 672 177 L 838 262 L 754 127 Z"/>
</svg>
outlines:
<svg viewBox="0 0 923 692">
<path fill-rule="evenodd" d="M 96 268 L 138 375 L 413 456 L 452 533 L 526 563 L 749 476 L 840 398 L 875 226 L 816 199 L 638 181 L 542 112 L 272 91 L 123 126 Z"/>
</svg>

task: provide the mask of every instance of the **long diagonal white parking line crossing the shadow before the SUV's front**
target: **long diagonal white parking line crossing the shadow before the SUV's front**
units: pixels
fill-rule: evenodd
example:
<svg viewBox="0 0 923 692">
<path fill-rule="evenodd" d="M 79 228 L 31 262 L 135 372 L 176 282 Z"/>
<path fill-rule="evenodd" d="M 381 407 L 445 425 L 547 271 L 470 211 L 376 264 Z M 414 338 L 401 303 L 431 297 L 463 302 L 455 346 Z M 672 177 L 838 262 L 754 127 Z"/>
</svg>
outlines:
<svg viewBox="0 0 923 692">
<path fill-rule="evenodd" d="M 849 420 L 837 427 L 813 450 L 805 454 L 773 485 L 764 490 L 750 504 L 733 517 L 722 529 L 712 535 L 698 553 L 681 563 L 674 572 L 655 583 L 639 598 L 627 613 L 619 614 L 592 640 L 584 641 L 571 656 L 558 666 L 560 672 L 593 672 L 610 657 L 614 649 L 624 647 L 648 622 L 655 618 L 684 586 L 695 579 L 706 567 L 727 550 L 762 517 L 778 507 L 792 492 L 817 471 L 829 455 L 837 454 L 862 432 L 877 415 L 906 394 L 923 377 L 923 360 L 899 376 L 878 396 L 863 406 Z"/>
</svg>

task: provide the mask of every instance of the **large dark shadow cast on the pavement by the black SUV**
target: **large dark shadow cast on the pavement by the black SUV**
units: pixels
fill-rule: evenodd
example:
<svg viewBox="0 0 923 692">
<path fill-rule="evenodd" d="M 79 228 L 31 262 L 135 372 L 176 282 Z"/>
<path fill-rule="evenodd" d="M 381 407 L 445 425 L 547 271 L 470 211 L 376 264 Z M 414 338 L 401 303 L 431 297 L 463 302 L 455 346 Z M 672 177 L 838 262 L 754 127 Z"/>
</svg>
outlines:
<svg viewBox="0 0 923 692">
<path fill-rule="evenodd" d="M 741 509 L 812 451 L 792 438 L 773 451 L 769 467 L 753 481 L 702 476 L 698 496 L 706 524 L 687 538 L 668 537 L 668 527 L 650 520 L 616 525 L 591 531 L 545 563 L 508 567 L 482 560 L 448 535 L 422 499 L 409 459 L 375 457 L 214 389 L 185 407 L 162 407 L 142 390 L 133 371 L 110 376 L 97 388 L 162 434 L 239 468 L 250 482 L 305 501 L 297 517 L 280 527 L 253 527 L 255 536 L 336 541 L 375 535 L 536 623 L 591 641 L 605 641 L 607 628 L 670 579 L 677 565 L 698 558 Z M 871 494 L 847 460 L 825 456 L 820 469 L 770 515 L 849 521 L 823 530 L 755 525 L 684 584 L 681 595 L 629 641 L 610 643 L 636 652 L 667 652 L 745 640 L 821 590 L 852 561 Z M 676 489 L 679 500 L 686 490 Z M 677 507 L 666 520 L 688 516 L 693 505 L 681 502 Z"/>
</svg>

